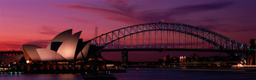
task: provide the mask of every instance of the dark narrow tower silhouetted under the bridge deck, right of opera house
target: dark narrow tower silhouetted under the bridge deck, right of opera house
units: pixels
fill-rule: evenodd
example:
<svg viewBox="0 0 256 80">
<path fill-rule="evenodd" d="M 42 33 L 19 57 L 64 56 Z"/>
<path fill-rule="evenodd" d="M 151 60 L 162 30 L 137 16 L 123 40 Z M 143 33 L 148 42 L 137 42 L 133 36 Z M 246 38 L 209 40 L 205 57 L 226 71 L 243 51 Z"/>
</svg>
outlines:
<svg viewBox="0 0 256 80">
<path fill-rule="evenodd" d="M 128 51 L 126 49 L 122 50 L 122 66 L 127 67 L 128 63 Z"/>
</svg>

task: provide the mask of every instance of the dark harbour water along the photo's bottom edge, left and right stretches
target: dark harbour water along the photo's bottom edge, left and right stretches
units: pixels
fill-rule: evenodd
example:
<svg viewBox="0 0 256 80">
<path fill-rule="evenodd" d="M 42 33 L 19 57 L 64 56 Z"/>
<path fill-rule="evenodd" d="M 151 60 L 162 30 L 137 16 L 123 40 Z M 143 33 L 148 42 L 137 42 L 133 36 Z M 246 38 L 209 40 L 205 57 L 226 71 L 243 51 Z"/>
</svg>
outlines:
<svg viewBox="0 0 256 80">
<path fill-rule="evenodd" d="M 113 74 L 118 80 L 256 80 L 256 72 L 237 70 L 181 70 L 136 68 L 127 69 L 126 73 Z M 76 74 L 22 74 L 1 75 L 0 80 L 83 80 Z"/>
</svg>

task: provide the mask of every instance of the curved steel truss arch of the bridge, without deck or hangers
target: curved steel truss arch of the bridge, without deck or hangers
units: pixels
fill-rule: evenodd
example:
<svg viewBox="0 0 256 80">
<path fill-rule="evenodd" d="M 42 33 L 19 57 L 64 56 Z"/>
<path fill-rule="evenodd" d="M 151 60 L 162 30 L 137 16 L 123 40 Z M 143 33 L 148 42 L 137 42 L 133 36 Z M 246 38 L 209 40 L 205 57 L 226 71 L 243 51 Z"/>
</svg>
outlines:
<svg viewBox="0 0 256 80">
<path fill-rule="evenodd" d="M 211 30 L 180 23 L 145 23 L 140 25 L 132 25 L 102 34 L 91 40 L 96 46 L 107 46 L 108 44 L 113 44 L 114 41 L 125 38 L 126 36 L 154 30 L 170 30 L 195 36 L 213 44 L 220 50 L 248 50 L 248 46 L 245 44 L 238 43 L 228 37 L 222 36 L 221 34 L 212 32 Z"/>
</svg>

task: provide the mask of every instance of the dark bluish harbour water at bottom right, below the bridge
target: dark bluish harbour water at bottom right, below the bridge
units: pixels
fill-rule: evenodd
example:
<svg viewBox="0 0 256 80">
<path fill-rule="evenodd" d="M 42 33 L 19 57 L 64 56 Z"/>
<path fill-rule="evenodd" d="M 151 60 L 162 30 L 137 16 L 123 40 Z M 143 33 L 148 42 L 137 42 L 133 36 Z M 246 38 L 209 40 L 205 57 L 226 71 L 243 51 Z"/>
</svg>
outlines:
<svg viewBox="0 0 256 80">
<path fill-rule="evenodd" d="M 236 70 L 181 70 L 142 68 L 128 69 L 127 73 L 114 74 L 118 80 L 222 80 L 222 79 L 256 79 L 255 72 L 237 72 Z"/>
</svg>

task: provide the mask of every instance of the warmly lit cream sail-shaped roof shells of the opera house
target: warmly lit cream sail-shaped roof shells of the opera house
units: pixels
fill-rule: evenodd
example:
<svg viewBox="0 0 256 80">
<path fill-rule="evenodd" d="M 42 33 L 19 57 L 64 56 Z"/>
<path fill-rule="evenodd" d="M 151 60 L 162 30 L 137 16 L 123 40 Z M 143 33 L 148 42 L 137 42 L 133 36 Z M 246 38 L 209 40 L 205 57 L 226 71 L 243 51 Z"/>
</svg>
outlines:
<svg viewBox="0 0 256 80">
<path fill-rule="evenodd" d="M 87 56 L 91 41 L 79 39 L 81 31 L 72 34 L 72 29 L 54 37 L 46 48 L 23 44 L 22 50 L 27 61 L 76 61 Z"/>
</svg>

